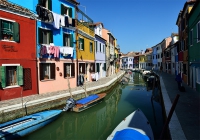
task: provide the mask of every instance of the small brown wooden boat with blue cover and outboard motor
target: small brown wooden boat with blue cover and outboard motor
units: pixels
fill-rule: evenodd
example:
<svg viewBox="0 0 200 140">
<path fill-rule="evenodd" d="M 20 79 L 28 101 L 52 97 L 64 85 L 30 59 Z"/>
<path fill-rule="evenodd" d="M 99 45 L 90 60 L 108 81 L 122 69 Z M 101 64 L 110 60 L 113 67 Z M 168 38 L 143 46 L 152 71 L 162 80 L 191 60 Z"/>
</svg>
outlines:
<svg viewBox="0 0 200 140">
<path fill-rule="evenodd" d="M 105 98 L 105 96 L 106 93 L 93 94 L 77 101 L 75 101 L 72 98 L 69 98 L 63 111 L 67 111 L 70 109 L 74 112 L 81 112 L 100 103 Z"/>
</svg>

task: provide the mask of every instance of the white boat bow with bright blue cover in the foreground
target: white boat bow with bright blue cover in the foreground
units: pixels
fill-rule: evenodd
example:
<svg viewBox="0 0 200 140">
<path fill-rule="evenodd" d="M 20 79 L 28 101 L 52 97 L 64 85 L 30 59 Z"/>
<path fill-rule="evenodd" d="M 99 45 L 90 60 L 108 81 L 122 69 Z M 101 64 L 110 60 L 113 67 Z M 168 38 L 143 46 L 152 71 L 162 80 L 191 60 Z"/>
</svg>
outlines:
<svg viewBox="0 0 200 140">
<path fill-rule="evenodd" d="M 153 140 L 150 123 L 140 109 L 128 115 L 108 136 L 107 140 Z"/>
</svg>

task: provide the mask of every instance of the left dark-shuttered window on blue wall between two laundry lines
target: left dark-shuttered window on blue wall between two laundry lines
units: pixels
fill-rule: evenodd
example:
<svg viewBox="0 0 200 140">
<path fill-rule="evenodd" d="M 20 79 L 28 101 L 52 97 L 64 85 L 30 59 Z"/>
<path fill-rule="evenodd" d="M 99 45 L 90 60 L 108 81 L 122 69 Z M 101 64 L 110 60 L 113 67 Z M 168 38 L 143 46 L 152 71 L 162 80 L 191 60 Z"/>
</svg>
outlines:
<svg viewBox="0 0 200 140">
<path fill-rule="evenodd" d="M 39 44 L 53 43 L 52 31 L 38 28 L 38 40 L 39 40 Z"/>
</svg>

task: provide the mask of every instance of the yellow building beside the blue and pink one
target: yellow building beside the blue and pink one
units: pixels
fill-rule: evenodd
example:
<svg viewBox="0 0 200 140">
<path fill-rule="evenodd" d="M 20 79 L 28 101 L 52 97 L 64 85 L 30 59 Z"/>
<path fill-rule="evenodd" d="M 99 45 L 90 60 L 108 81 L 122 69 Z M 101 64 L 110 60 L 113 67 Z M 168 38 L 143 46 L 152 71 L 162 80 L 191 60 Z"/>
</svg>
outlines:
<svg viewBox="0 0 200 140">
<path fill-rule="evenodd" d="M 84 76 L 85 81 L 92 81 L 91 75 L 95 73 L 95 33 L 94 28 L 90 26 L 93 21 L 81 10 L 78 10 L 78 13 L 86 19 L 85 21 L 83 19 L 77 20 L 76 26 L 76 58 L 79 83 L 80 76 Z"/>
</svg>

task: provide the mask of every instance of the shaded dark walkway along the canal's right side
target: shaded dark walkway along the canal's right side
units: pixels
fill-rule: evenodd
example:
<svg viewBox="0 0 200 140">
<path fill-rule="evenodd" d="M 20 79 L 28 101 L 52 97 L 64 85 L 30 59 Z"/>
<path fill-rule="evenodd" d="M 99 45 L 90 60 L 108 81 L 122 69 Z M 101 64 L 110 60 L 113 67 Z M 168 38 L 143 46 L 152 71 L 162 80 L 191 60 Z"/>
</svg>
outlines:
<svg viewBox="0 0 200 140">
<path fill-rule="evenodd" d="M 185 92 L 178 90 L 175 75 L 157 72 L 166 114 L 179 94 L 175 111 L 169 123 L 169 131 L 173 140 L 200 140 L 200 93 L 183 83 Z"/>
</svg>

